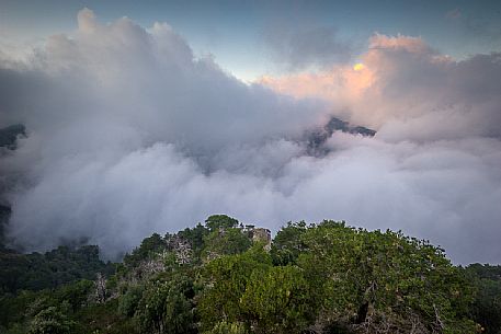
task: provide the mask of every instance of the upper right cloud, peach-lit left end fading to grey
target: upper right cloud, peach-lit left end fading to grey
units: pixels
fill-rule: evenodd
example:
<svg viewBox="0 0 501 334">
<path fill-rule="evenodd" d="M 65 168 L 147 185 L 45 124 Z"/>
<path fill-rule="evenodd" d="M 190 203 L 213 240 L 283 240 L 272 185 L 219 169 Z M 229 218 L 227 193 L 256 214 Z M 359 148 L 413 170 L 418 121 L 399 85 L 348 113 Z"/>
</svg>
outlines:
<svg viewBox="0 0 501 334">
<path fill-rule="evenodd" d="M 363 66 L 263 78 L 296 97 L 330 101 L 340 115 L 379 130 L 379 137 L 421 141 L 501 136 L 501 54 L 463 61 L 419 37 L 376 34 Z M 451 122 L 444 122 L 449 119 Z"/>
</svg>

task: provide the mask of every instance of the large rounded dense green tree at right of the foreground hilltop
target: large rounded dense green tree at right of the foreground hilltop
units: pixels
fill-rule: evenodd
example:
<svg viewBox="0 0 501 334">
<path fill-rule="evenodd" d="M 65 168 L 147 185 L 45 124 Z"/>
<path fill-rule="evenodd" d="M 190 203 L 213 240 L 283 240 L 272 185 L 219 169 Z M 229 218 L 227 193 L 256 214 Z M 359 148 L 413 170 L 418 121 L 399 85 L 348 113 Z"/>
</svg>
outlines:
<svg viewBox="0 0 501 334">
<path fill-rule="evenodd" d="M 401 233 L 334 221 L 308 229 L 301 240 L 307 251 L 298 264 L 330 321 L 355 329 L 371 324 L 375 332 L 394 327 L 405 333 L 415 326 L 475 332 L 472 323 L 463 321 L 471 288 L 441 249 Z M 457 332 L 462 326 L 467 330 Z"/>
</svg>

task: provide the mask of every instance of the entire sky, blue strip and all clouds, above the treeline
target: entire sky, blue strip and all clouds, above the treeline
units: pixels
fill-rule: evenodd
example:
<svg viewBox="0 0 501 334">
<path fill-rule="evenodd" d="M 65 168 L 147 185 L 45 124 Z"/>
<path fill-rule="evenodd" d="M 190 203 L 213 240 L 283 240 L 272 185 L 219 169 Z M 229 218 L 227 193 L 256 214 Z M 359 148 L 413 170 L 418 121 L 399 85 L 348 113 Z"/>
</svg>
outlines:
<svg viewBox="0 0 501 334">
<path fill-rule="evenodd" d="M 401 230 L 501 263 L 499 1 L 0 1 L 11 246 L 227 214 Z M 311 136 L 331 117 L 376 130 Z"/>
</svg>

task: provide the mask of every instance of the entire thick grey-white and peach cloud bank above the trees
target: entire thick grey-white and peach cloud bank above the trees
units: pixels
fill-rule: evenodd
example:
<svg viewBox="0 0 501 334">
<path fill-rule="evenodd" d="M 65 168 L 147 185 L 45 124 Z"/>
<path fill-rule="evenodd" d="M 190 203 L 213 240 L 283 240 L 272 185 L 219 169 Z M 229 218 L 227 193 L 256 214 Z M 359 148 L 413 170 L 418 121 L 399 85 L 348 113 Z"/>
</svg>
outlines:
<svg viewBox="0 0 501 334">
<path fill-rule="evenodd" d="M 25 250 L 80 241 L 114 257 L 224 212 L 401 229 L 455 262 L 500 262 L 500 55 L 455 61 L 375 35 L 363 66 L 246 85 L 167 24 L 90 10 L 33 55 L 0 69 L 0 126 L 29 131 L 0 164 Z M 334 133 L 310 157 L 304 134 L 329 115 L 378 134 Z"/>
</svg>

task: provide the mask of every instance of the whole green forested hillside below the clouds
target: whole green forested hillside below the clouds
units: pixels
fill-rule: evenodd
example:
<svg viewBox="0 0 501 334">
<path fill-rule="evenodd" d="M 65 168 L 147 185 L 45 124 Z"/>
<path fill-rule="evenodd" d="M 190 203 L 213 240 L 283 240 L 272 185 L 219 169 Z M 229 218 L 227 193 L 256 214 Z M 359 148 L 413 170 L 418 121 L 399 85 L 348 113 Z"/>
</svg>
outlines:
<svg viewBox="0 0 501 334">
<path fill-rule="evenodd" d="M 0 333 L 501 333 L 501 267 L 400 232 L 217 215 L 98 252 L 1 250 Z"/>
</svg>

